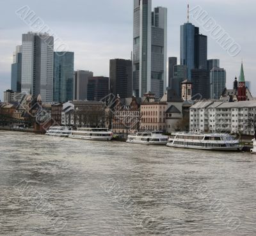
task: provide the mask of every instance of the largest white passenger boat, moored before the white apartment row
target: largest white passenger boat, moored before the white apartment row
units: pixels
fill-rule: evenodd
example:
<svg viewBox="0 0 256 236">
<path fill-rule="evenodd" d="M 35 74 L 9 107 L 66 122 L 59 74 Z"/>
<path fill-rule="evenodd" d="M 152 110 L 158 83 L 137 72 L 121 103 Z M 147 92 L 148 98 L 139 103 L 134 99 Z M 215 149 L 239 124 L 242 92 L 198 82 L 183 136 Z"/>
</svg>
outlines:
<svg viewBox="0 0 256 236">
<path fill-rule="evenodd" d="M 166 145 L 218 151 L 241 151 L 243 149 L 236 136 L 225 133 L 174 133 Z"/>
</svg>

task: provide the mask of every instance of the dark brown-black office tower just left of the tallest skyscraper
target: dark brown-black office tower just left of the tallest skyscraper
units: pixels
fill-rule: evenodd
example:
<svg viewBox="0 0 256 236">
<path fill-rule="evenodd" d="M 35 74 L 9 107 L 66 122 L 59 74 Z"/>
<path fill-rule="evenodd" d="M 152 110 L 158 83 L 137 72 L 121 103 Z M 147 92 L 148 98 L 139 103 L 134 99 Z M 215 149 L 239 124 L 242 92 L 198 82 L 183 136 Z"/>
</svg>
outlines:
<svg viewBox="0 0 256 236">
<path fill-rule="evenodd" d="M 132 96 L 132 61 L 111 59 L 109 61 L 109 91 L 120 98 Z"/>
</svg>

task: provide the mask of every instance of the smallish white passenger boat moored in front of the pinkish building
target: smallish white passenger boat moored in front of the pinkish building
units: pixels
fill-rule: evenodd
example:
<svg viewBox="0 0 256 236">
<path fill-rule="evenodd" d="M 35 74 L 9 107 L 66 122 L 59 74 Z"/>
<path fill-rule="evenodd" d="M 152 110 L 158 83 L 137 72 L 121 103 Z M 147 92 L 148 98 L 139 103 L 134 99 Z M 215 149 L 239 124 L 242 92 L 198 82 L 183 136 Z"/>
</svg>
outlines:
<svg viewBox="0 0 256 236">
<path fill-rule="evenodd" d="M 168 136 L 163 135 L 162 131 L 138 132 L 134 135 L 128 135 L 127 143 L 131 144 L 154 144 L 166 145 Z"/>
</svg>

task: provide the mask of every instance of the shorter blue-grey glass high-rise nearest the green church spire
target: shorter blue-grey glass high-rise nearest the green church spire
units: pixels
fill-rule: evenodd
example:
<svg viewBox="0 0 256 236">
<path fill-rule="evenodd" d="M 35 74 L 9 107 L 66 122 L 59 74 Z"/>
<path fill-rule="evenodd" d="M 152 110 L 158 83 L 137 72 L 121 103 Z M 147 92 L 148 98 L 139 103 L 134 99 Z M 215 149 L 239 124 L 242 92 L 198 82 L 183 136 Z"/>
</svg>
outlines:
<svg viewBox="0 0 256 236">
<path fill-rule="evenodd" d="M 210 72 L 211 99 L 220 99 L 226 88 L 226 70 L 223 68 L 212 68 Z"/>
</svg>

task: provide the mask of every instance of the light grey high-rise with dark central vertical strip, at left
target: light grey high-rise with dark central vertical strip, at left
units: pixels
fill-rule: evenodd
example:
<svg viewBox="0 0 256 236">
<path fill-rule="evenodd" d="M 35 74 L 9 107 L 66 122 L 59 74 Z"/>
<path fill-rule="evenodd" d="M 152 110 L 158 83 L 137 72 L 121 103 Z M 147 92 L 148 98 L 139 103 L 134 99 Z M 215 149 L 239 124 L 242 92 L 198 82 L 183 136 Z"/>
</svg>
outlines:
<svg viewBox="0 0 256 236">
<path fill-rule="evenodd" d="M 47 33 L 22 34 L 21 91 L 52 102 L 54 38 Z"/>
</svg>

